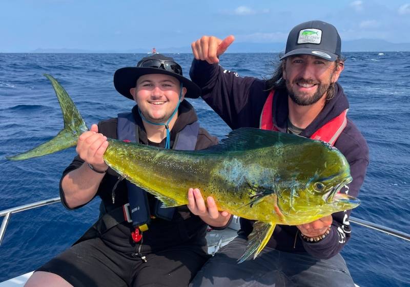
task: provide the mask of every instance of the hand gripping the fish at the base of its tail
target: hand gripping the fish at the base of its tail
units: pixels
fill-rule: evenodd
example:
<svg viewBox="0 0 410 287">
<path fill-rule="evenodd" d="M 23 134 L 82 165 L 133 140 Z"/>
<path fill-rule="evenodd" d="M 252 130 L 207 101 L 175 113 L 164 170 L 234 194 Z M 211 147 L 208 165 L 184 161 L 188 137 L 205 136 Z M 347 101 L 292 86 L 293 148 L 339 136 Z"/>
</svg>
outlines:
<svg viewBox="0 0 410 287">
<path fill-rule="evenodd" d="M 86 163 L 93 165 L 97 170 L 103 171 L 108 169 L 108 165 L 103 159 L 107 147 L 107 137 L 98 134 L 98 126 L 93 124 L 89 131 L 79 136 L 75 151 Z"/>
</svg>

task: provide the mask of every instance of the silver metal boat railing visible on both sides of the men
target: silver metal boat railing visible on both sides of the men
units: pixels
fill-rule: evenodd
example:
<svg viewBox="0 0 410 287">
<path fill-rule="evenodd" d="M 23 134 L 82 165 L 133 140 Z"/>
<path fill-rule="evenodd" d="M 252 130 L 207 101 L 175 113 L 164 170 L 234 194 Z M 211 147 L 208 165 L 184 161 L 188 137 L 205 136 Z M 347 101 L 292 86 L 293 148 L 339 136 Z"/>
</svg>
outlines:
<svg viewBox="0 0 410 287">
<path fill-rule="evenodd" d="M 17 213 L 20 211 L 24 211 L 24 210 L 28 210 L 28 209 L 32 209 L 32 208 L 37 208 L 40 206 L 45 206 L 45 205 L 50 205 L 50 204 L 54 204 L 57 202 L 60 202 L 61 199 L 60 197 L 54 197 L 54 198 L 50 198 L 48 200 L 44 200 L 44 201 L 38 201 L 38 202 L 34 202 L 34 203 L 30 203 L 30 204 L 25 204 L 25 205 L 21 205 L 21 206 L 17 206 L 17 207 L 13 207 L 13 208 L 9 208 L 3 211 L 0 211 L 0 217 L 4 216 L 3 222 L 2 222 L 2 227 L 0 228 L 0 246 L 2 245 L 2 241 L 4 238 L 4 234 L 6 232 L 6 228 L 7 225 L 10 221 L 10 217 L 13 213 Z M 237 224 L 238 220 L 236 218 L 236 220 L 234 220 Z M 350 216 L 349 221 L 352 223 L 355 223 L 357 225 L 361 225 L 367 228 L 371 228 L 383 233 L 386 233 L 388 235 L 393 235 L 395 237 L 410 241 L 410 234 L 405 233 L 405 232 L 401 232 L 392 228 L 388 228 L 382 225 L 378 225 L 372 222 L 368 222 L 366 220 L 360 219 L 360 218 L 356 218 L 353 216 Z M 220 242 L 218 241 L 218 244 L 220 245 Z"/>
</svg>

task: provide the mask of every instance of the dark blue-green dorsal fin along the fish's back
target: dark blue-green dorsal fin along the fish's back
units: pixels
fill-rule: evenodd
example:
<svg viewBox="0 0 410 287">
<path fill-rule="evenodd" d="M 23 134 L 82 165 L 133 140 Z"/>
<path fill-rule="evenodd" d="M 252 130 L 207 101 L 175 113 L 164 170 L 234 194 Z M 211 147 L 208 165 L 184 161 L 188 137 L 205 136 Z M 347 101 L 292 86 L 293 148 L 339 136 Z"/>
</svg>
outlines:
<svg viewBox="0 0 410 287">
<path fill-rule="evenodd" d="M 242 127 L 231 131 L 227 138 L 222 139 L 219 144 L 209 147 L 207 151 L 242 151 L 269 147 L 280 142 L 300 144 L 305 141 L 309 141 L 309 139 L 292 134 L 279 133 L 278 131 Z"/>
</svg>

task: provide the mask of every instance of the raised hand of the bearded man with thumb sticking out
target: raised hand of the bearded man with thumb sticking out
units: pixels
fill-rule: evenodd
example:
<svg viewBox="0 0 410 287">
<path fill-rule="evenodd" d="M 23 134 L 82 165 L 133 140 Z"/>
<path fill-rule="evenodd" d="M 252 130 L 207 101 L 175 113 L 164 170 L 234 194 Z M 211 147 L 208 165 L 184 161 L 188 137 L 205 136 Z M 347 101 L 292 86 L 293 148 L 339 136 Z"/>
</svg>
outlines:
<svg viewBox="0 0 410 287">
<path fill-rule="evenodd" d="M 234 40 L 233 35 L 223 40 L 215 36 L 202 36 L 191 43 L 192 53 L 197 60 L 207 61 L 210 64 L 219 63 L 218 56 L 222 55 Z"/>
</svg>

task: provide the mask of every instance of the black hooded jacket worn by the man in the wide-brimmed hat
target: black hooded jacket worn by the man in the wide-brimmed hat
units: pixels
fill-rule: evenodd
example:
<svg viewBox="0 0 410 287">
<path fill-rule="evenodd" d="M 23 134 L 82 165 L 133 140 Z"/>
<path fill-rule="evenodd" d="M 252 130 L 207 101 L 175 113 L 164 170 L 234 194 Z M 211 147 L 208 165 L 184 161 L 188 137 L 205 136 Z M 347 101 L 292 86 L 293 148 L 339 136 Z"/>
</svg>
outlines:
<svg viewBox="0 0 410 287">
<path fill-rule="evenodd" d="M 138 137 L 139 143 L 149 144 L 147 133 L 145 131 L 142 120 L 138 114 L 137 106 L 134 106 L 132 113 L 138 125 Z M 183 101 L 178 108 L 178 119 L 176 120 L 171 130 L 171 143 L 172 146 L 175 140 L 176 134 L 181 131 L 186 125 L 197 121 L 197 116 L 194 108 L 188 101 Z M 101 121 L 98 123 L 98 131 L 108 138 L 117 139 L 117 118 Z M 211 145 L 218 143 L 216 137 L 211 136 L 205 129 L 200 128 L 197 138 L 195 149 L 205 149 Z M 165 140 L 160 144 L 160 147 L 165 147 Z M 63 176 L 70 171 L 80 167 L 84 163 L 78 156 L 76 156 L 73 162 L 63 172 Z M 111 191 L 118 180 L 118 174 L 112 169 L 104 176 L 101 181 L 96 196 L 101 198 L 104 207 L 107 211 L 120 207 L 128 203 L 126 182 L 121 181 L 118 183 L 115 189 L 115 203 L 112 203 Z M 188 190 L 187 190 L 188 194 Z M 63 205 L 68 208 L 63 189 L 61 189 L 60 181 L 60 197 Z M 151 208 L 154 204 L 154 197 L 148 194 L 149 204 Z M 76 208 L 79 208 L 78 206 Z M 70 209 L 70 208 L 68 208 Z M 180 244 L 181 242 L 192 241 L 193 244 L 206 246 L 205 232 L 207 225 L 196 215 L 192 214 L 187 206 L 181 206 L 177 208 L 174 217 L 171 221 L 155 218 L 151 220 L 149 230 L 144 232 L 144 242 L 141 252 L 151 252 L 161 250 L 169 246 Z M 136 244 L 131 239 L 132 227 L 129 223 L 122 223 L 116 227 L 113 227 L 108 232 L 103 234 L 104 242 L 111 246 L 114 250 L 119 252 L 135 252 Z M 140 242 L 139 242 L 140 243 Z"/>
</svg>

